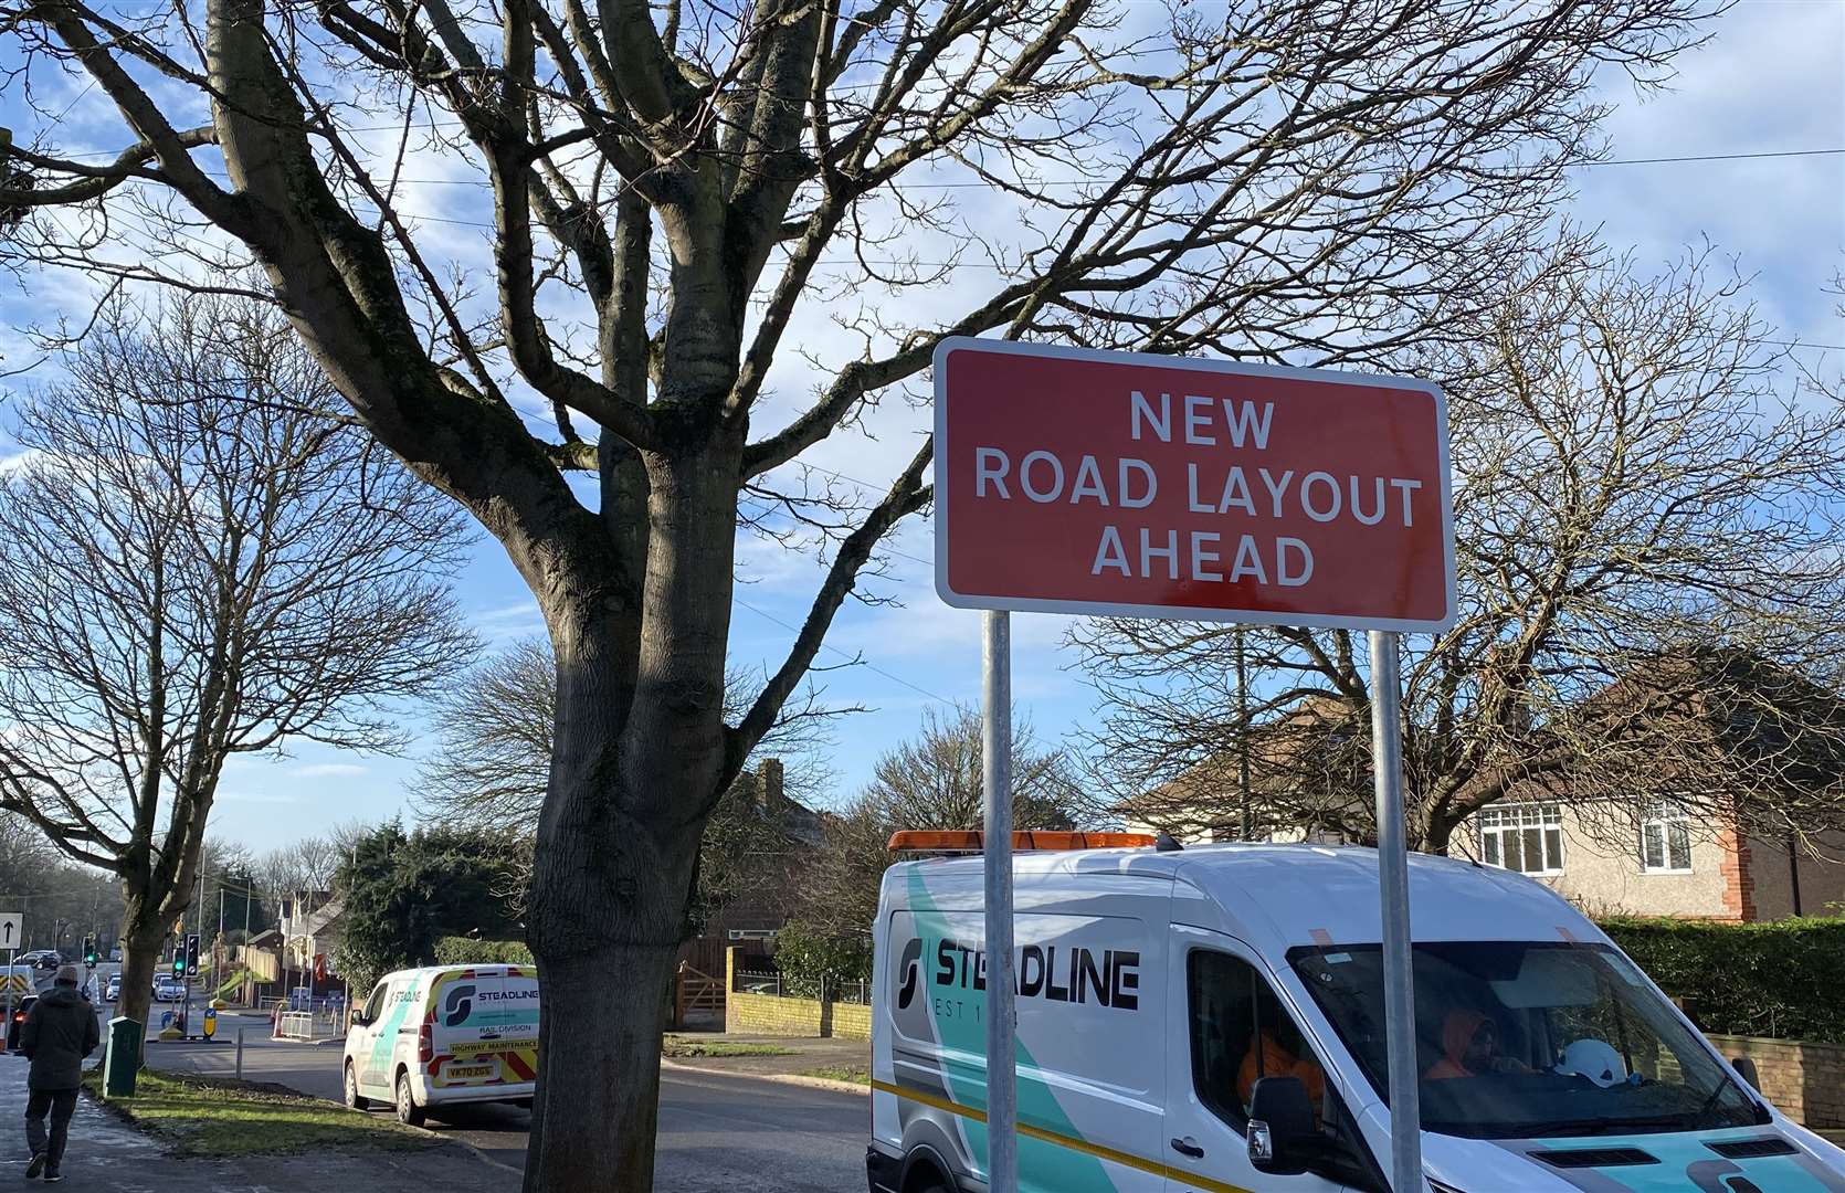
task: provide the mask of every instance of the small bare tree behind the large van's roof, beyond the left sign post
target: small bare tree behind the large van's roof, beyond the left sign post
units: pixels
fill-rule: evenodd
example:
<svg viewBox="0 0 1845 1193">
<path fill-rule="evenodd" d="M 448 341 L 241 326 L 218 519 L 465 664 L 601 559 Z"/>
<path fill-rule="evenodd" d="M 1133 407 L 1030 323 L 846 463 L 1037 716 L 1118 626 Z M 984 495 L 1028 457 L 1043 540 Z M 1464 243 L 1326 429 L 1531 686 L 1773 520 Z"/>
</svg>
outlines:
<svg viewBox="0 0 1845 1193">
<path fill-rule="evenodd" d="M 1013 714 L 1015 828 L 1077 828 L 1083 798 L 1063 750 L 1044 749 L 1030 719 Z M 821 848 L 795 874 L 797 918 L 825 937 L 862 939 L 878 913 L 878 881 L 891 865 L 891 833 L 980 828 L 980 714 L 934 708 L 917 736 L 887 750 L 871 782 L 827 819 Z"/>
</svg>

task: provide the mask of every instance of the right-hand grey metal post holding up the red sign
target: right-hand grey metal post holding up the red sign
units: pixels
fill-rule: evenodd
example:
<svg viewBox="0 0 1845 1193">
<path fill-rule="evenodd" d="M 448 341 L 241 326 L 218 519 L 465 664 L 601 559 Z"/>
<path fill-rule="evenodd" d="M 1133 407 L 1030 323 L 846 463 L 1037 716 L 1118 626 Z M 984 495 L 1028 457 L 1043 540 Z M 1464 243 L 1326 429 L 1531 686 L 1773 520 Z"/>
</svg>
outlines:
<svg viewBox="0 0 1845 1193">
<path fill-rule="evenodd" d="M 1389 1060 L 1391 1189 L 1422 1189 L 1422 1108 L 1410 955 L 1410 846 L 1402 811 L 1402 677 L 1397 634 L 1371 631 L 1371 758 L 1378 797 L 1378 902 L 1384 913 L 1384 1040 Z"/>
</svg>

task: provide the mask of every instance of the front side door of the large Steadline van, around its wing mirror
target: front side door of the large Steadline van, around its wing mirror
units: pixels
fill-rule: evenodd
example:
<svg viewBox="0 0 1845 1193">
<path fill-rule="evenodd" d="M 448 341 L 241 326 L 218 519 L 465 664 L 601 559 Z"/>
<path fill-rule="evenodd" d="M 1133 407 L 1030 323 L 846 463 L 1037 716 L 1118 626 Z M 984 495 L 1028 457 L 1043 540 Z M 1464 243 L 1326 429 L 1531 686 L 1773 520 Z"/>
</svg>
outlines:
<svg viewBox="0 0 1845 1193">
<path fill-rule="evenodd" d="M 1168 950 L 1166 1189 L 1170 1193 L 1336 1193 L 1375 1189 L 1363 1141 L 1327 1051 L 1275 994 L 1256 955 L 1220 933 L 1173 926 Z M 1352 1151 L 1317 1173 L 1275 1176 L 1249 1163 L 1249 1095 L 1262 1077 L 1299 1077 L 1325 1123 Z"/>
</svg>

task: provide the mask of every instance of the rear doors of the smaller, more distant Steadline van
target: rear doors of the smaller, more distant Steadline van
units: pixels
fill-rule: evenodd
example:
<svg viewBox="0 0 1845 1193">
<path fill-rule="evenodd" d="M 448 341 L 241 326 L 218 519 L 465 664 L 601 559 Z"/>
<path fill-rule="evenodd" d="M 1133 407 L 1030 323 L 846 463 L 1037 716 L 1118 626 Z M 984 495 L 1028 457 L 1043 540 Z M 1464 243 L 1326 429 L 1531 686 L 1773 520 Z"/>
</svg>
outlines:
<svg viewBox="0 0 1845 1193">
<path fill-rule="evenodd" d="M 530 1086 L 539 1075 L 539 977 L 531 970 L 445 974 L 430 999 L 432 1092 Z M 509 1092 L 509 1095 L 515 1092 Z"/>
</svg>

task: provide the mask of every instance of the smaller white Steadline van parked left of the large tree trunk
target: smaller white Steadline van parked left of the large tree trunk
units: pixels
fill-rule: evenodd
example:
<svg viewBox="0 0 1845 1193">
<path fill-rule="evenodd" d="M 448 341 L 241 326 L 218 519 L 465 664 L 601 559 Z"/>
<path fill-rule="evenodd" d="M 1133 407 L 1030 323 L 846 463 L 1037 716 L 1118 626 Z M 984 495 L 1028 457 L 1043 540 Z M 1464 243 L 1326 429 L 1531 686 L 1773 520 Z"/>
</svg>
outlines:
<svg viewBox="0 0 1845 1193">
<path fill-rule="evenodd" d="M 531 1104 L 539 1079 L 539 975 L 452 964 L 384 975 L 352 1012 L 345 1104 L 389 1103 L 421 1127 L 458 1103 Z"/>
</svg>

